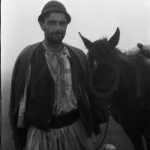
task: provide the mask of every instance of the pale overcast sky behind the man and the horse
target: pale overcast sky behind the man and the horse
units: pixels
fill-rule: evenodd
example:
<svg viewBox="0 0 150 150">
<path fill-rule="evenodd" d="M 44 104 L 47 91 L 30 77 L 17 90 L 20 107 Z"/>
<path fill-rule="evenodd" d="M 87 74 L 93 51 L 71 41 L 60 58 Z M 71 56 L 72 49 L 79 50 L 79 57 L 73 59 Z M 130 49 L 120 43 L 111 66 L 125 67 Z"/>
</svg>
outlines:
<svg viewBox="0 0 150 150">
<path fill-rule="evenodd" d="M 86 49 L 78 35 L 81 32 L 91 41 L 110 37 L 116 27 L 121 36 L 118 47 L 131 49 L 137 42 L 150 41 L 149 0 L 59 0 L 72 17 L 65 42 Z M 29 44 L 43 40 L 37 22 L 48 0 L 2 1 L 2 71 L 12 70 L 20 51 Z"/>
</svg>

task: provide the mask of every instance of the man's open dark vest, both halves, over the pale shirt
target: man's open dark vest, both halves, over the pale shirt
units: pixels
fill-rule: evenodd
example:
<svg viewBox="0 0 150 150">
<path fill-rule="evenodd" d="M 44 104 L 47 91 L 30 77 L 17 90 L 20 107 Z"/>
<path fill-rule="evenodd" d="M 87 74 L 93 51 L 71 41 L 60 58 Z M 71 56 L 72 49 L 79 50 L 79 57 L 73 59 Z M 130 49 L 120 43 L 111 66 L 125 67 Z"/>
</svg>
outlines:
<svg viewBox="0 0 150 150">
<path fill-rule="evenodd" d="M 92 130 L 91 112 L 86 96 L 84 96 L 86 88 L 81 79 L 81 64 L 74 52 L 69 48 L 68 50 L 71 55 L 69 62 L 71 66 L 73 91 L 77 99 L 78 109 L 85 127 L 87 130 Z M 27 94 L 26 121 L 28 124 L 47 130 L 50 128 L 52 118 L 55 83 L 49 72 L 45 58 L 45 50 L 42 44 L 36 48 L 31 58 L 30 79 Z"/>
</svg>

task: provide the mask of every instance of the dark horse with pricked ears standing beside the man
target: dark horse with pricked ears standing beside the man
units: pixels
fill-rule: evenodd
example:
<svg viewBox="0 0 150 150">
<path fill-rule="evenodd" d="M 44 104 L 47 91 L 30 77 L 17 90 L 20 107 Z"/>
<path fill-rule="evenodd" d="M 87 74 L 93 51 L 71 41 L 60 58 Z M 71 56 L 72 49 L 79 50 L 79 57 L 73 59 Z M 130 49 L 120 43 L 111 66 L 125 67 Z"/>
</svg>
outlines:
<svg viewBox="0 0 150 150">
<path fill-rule="evenodd" d="M 110 110 L 136 150 L 144 150 L 142 137 L 150 150 L 150 64 L 141 54 L 128 56 L 116 48 L 119 28 L 109 40 L 80 36 L 88 49 L 95 109 Z"/>
</svg>

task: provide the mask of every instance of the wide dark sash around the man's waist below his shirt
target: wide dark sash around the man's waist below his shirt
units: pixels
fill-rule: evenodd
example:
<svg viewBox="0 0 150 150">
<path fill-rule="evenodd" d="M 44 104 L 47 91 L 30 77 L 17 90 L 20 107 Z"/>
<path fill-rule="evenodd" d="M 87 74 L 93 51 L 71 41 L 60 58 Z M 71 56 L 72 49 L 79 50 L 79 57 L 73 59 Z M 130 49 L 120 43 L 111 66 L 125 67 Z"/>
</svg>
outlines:
<svg viewBox="0 0 150 150">
<path fill-rule="evenodd" d="M 58 129 L 65 126 L 69 126 L 74 123 L 80 117 L 79 111 L 73 110 L 66 115 L 52 116 L 52 120 L 50 123 L 51 129 Z"/>
</svg>

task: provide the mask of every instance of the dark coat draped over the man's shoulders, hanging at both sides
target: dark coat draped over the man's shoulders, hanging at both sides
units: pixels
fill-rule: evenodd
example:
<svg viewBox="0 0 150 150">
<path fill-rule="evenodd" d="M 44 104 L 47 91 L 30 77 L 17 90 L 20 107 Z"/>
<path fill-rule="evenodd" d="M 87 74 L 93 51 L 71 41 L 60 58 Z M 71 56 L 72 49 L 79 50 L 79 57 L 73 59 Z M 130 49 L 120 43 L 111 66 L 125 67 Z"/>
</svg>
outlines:
<svg viewBox="0 0 150 150">
<path fill-rule="evenodd" d="M 15 143 L 15 147 L 17 149 L 22 149 L 25 146 L 26 135 L 28 130 L 28 127 L 25 128 L 17 127 L 19 104 L 24 92 L 24 87 L 28 75 L 28 67 L 30 65 L 31 57 L 40 44 L 41 43 L 36 43 L 26 47 L 18 56 L 13 69 L 12 82 L 11 82 L 11 97 L 10 97 L 10 105 L 9 105 L 9 118 L 10 118 L 12 133 L 13 133 L 13 140 Z M 84 81 L 83 84 L 85 85 L 86 89 L 82 88 L 82 93 L 83 93 L 82 96 L 84 97 L 85 101 L 82 101 L 80 103 L 81 104 L 80 113 L 83 120 L 83 124 L 87 130 L 87 133 L 91 135 L 91 133 L 94 131 L 94 126 L 95 126 L 94 123 L 95 122 L 97 123 L 97 121 L 94 121 L 93 119 L 90 105 L 87 106 L 87 104 L 90 104 L 91 101 L 88 102 L 87 96 L 85 95 L 85 94 L 88 95 L 90 93 L 90 90 L 88 88 L 88 69 L 87 69 L 86 57 L 81 50 L 72 47 L 68 44 L 65 45 L 71 52 L 73 52 L 78 57 L 79 62 L 81 63 L 82 74 L 83 74 L 82 79 Z"/>
</svg>

